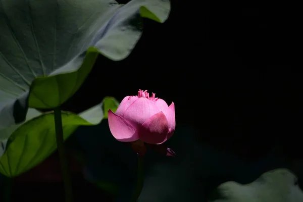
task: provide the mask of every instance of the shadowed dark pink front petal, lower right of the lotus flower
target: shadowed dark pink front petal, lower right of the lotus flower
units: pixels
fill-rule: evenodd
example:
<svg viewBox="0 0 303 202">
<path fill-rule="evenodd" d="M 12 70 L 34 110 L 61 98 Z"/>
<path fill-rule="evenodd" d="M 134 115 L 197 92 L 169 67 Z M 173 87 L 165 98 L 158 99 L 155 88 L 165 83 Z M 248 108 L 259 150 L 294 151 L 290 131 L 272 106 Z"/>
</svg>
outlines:
<svg viewBox="0 0 303 202">
<path fill-rule="evenodd" d="M 139 138 L 149 144 L 159 144 L 167 139 L 169 126 L 163 112 L 147 119 L 139 128 Z"/>
</svg>

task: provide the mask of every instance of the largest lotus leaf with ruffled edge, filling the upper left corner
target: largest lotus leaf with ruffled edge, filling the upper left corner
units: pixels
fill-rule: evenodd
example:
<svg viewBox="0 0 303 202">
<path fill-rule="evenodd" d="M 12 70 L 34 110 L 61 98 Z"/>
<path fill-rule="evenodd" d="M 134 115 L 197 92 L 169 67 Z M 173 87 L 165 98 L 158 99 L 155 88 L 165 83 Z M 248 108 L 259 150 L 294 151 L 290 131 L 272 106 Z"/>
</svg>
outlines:
<svg viewBox="0 0 303 202">
<path fill-rule="evenodd" d="M 98 54 L 125 59 L 142 17 L 162 23 L 169 11 L 169 0 L 0 0 L 0 128 L 23 122 L 28 107 L 60 106 Z"/>
</svg>

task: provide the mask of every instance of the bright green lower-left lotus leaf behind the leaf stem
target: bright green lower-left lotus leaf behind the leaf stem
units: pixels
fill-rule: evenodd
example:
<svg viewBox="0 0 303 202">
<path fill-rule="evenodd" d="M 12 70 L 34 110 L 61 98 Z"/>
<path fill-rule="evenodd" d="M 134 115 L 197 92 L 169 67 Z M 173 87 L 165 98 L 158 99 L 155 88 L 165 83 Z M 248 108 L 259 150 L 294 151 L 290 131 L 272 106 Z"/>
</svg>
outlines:
<svg viewBox="0 0 303 202">
<path fill-rule="evenodd" d="M 29 109 L 30 111 L 35 110 Z M 41 114 L 37 111 L 35 113 L 38 116 L 31 117 L 19 125 L 7 140 L 6 150 L 0 157 L 0 172 L 8 177 L 18 176 L 33 168 L 57 148 L 54 113 Z M 79 115 L 62 112 L 64 139 L 68 138 L 78 126 L 100 123 L 103 116 L 103 104 Z"/>
</svg>

